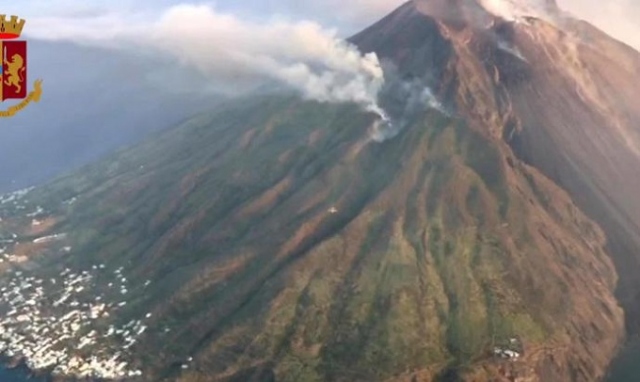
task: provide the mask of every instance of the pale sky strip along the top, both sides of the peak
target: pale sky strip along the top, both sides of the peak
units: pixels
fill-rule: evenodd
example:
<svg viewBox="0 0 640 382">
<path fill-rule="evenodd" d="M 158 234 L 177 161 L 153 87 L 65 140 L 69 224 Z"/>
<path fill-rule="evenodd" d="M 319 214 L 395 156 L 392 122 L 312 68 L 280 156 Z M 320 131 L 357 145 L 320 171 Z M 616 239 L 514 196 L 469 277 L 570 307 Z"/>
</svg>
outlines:
<svg viewBox="0 0 640 382">
<path fill-rule="evenodd" d="M 207 4 L 222 13 L 254 22 L 266 19 L 316 21 L 348 36 L 375 22 L 404 0 L 21 0 L 4 4 L 2 13 L 42 21 L 110 22 L 122 16 L 158 17 L 179 4 Z M 640 1 L 558 0 L 560 7 L 640 50 Z M 42 25 L 42 24 L 40 24 Z M 105 25 L 105 29 L 108 29 Z M 108 33 L 108 30 L 105 31 Z"/>
</svg>

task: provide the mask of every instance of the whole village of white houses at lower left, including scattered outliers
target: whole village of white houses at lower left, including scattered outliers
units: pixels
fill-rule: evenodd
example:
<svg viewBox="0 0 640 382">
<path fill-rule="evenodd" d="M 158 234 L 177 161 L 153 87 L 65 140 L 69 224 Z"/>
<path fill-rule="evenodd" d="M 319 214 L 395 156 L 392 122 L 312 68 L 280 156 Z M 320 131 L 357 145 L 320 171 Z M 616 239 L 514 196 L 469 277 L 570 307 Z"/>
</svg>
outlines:
<svg viewBox="0 0 640 382">
<path fill-rule="evenodd" d="M 33 188 L 0 195 L 0 355 L 23 361 L 31 370 L 77 379 L 122 380 L 142 375 L 132 364 L 135 349 L 147 331 L 141 319 L 114 325 L 125 309 L 130 286 L 123 268 L 107 270 L 96 264 L 84 271 L 65 269 L 54 277 L 39 278 L 28 269 L 29 258 L 11 252 L 22 242 L 3 229 L 3 218 L 18 218 L 39 226 L 44 208 L 33 208 L 27 195 Z M 77 201 L 63 202 L 70 206 Z M 27 211 L 33 211 L 27 213 Z M 65 240 L 65 233 L 32 239 L 34 244 Z M 70 252 L 71 247 L 60 247 Z M 4 263 L 4 264 L 3 264 Z M 2 269 L 2 268 L 0 268 Z M 150 285 L 147 280 L 143 288 Z M 165 328 L 165 333 L 169 329 Z M 182 369 L 189 368 L 189 357 Z"/>
</svg>

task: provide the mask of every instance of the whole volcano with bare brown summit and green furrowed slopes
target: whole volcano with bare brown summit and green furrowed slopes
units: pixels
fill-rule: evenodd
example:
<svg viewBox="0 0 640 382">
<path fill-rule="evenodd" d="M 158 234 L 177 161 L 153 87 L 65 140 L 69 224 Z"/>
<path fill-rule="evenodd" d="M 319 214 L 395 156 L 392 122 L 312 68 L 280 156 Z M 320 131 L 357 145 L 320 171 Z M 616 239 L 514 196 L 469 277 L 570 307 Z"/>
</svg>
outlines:
<svg viewBox="0 0 640 382">
<path fill-rule="evenodd" d="M 93 269 L 113 309 L 66 346 L 124 325 L 142 381 L 601 380 L 640 314 L 640 54 L 492 4 L 350 39 L 394 68 L 386 139 L 357 105 L 248 97 L 3 199 L 21 272 Z"/>
</svg>

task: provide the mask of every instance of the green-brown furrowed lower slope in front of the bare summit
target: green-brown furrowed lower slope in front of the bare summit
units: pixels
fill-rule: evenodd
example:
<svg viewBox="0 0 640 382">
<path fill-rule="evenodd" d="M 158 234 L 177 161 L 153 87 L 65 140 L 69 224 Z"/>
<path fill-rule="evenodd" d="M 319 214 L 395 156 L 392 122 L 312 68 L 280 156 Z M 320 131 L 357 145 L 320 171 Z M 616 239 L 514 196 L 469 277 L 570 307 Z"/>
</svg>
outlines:
<svg viewBox="0 0 640 382">
<path fill-rule="evenodd" d="M 370 122 L 284 98 L 194 119 L 37 191 L 79 196 L 54 211 L 73 253 L 48 261 L 153 281 L 114 317 L 154 312 L 151 380 L 489 375 L 514 336 L 588 375 L 619 325 L 597 227 L 461 121 L 367 144 Z"/>
</svg>

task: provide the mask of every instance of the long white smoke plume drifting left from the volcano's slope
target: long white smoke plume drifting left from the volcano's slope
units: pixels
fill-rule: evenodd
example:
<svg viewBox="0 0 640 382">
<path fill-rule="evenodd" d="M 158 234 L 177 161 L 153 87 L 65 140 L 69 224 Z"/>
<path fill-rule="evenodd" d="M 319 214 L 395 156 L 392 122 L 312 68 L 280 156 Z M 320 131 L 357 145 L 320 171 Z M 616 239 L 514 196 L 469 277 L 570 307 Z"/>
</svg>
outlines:
<svg viewBox="0 0 640 382">
<path fill-rule="evenodd" d="M 76 23 L 76 28 L 68 20 L 34 20 L 31 27 L 39 38 L 173 55 L 209 75 L 221 89 L 250 89 L 266 79 L 277 80 L 309 99 L 355 102 L 384 115 L 376 102 L 384 84 L 378 58 L 360 54 L 336 30 L 308 21 L 248 22 L 206 5 L 175 6 L 151 21 L 129 18 L 102 17 Z M 56 23 L 58 27 L 52 25 Z"/>
</svg>

